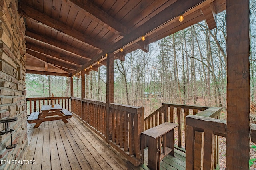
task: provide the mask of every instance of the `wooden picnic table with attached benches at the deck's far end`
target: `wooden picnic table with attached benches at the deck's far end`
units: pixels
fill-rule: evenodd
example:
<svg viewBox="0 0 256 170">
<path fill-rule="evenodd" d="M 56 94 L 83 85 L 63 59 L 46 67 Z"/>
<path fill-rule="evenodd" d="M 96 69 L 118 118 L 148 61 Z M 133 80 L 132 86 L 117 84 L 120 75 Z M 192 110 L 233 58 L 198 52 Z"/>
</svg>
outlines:
<svg viewBox="0 0 256 170">
<path fill-rule="evenodd" d="M 36 123 L 34 128 L 38 128 L 42 122 L 54 121 L 62 119 L 64 123 L 68 123 L 66 119 L 71 118 L 72 113 L 67 109 L 63 109 L 60 105 L 43 105 L 41 113 L 33 112 L 28 117 L 28 123 Z"/>
</svg>

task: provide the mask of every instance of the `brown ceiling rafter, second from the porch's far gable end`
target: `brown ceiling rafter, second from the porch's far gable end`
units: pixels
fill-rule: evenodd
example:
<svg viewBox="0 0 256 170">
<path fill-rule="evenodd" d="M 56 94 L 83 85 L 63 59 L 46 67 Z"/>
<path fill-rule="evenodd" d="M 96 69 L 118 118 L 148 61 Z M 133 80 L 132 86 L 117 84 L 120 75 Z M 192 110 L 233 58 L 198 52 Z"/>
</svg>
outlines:
<svg viewBox="0 0 256 170">
<path fill-rule="evenodd" d="M 26 43 L 26 48 L 30 49 L 32 51 L 36 51 L 38 53 L 42 53 L 42 54 L 46 54 L 46 55 L 52 56 L 54 58 L 57 58 L 57 59 L 60 59 L 60 60 L 63 60 L 63 61 L 68 61 L 70 63 L 74 63 L 76 65 L 81 65 L 81 63 L 86 63 L 88 61 L 87 59 L 84 59 L 84 58 L 82 58 L 82 59 L 74 59 L 72 57 L 68 57 L 68 56 L 62 55 L 61 53 L 58 53 L 58 52 L 55 52 L 55 51 L 51 51 L 50 49 L 39 47 L 39 46 L 34 45 L 32 43 Z"/>
</svg>

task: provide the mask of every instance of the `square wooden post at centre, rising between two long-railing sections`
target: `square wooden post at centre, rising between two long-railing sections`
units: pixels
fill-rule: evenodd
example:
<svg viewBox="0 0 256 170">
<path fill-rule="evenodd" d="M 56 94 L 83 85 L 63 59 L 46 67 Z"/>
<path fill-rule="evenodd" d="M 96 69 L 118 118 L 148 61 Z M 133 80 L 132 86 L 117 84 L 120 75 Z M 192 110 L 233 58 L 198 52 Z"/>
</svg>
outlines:
<svg viewBox="0 0 256 170">
<path fill-rule="evenodd" d="M 111 140 L 112 116 L 109 104 L 114 102 L 114 53 L 107 56 L 107 89 L 106 89 L 106 140 Z"/>
</svg>

